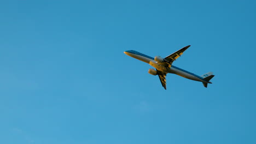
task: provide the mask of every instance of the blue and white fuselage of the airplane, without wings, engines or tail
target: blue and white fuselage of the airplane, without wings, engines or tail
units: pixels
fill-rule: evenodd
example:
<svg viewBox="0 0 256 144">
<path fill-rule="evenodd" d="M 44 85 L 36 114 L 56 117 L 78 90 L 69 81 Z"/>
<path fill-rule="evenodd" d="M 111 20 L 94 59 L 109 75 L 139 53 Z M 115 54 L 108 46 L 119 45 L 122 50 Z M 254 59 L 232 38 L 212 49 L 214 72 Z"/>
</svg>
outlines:
<svg viewBox="0 0 256 144">
<path fill-rule="evenodd" d="M 176 74 L 176 75 L 179 75 L 179 76 L 182 76 L 187 79 L 194 80 L 194 81 L 211 83 L 211 82 L 205 81 L 203 79 L 203 77 L 201 77 L 201 76 L 190 73 L 187 70 L 183 70 L 181 68 L 175 67 L 174 65 L 171 65 L 171 67 L 165 67 L 164 65 L 161 65 L 159 62 L 154 61 L 153 57 L 144 55 L 143 53 L 133 51 L 133 50 L 125 51 L 124 53 L 130 57 L 133 57 L 140 61 L 146 62 L 146 63 L 150 64 L 152 67 L 154 67 L 160 71 L 163 71 L 164 73 Z"/>
</svg>

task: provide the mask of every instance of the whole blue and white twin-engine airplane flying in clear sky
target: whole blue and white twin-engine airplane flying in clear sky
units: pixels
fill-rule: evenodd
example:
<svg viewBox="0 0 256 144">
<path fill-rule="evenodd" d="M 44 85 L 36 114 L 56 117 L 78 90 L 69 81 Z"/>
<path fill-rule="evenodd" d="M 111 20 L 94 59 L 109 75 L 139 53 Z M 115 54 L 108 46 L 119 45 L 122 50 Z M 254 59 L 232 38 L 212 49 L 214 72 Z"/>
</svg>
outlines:
<svg viewBox="0 0 256 144">
<path fill-rule="evenodd" d="M 164 87 L 165 89 L 166 89 L 165 77 L 168 73 L 176 74 L 176 75 L 185 77 L 190 80 L 200 81 L 203 83 L 203 86 L 207 87 L 208 83 L 212 83 L 212 82 L 210 82 L 212 77 L 214 77 L 212 72 L 198 76 L 196 74 L 190 73 L 187 70 L 183 70 L 181 68 L 178 68 L 178 67 L 175 67 L 174 65 L 172 65 L 172 63 L 174 61 L 176 61 L 176 59 L 178 57 L 180 57 L 183 54 L 183 52 L 185 50 L 187 50 L 189 47 L 190 47 L 190 45 L 185 46 L 182 49 L 172 53 L 171 55 L 169 55 L 165 58 L 162 58 L 160 56 L 155 56 L 153 58 L 153 57 L 144 55 L 143 53 L 140 53 L 140 52 L 137 52 L 134 50 L 124 51 L 124 53 L 130 57 L 133 57 L 140 61 L 146 62 L 146 63 L 150 64 L 152 67 L 154 67 L 155 69 L 149 69 L 148 73 L 152 74 L 152 75 L 158 75 L 159 79 L 161 81 L 162 87 Z"/>
</svg>

